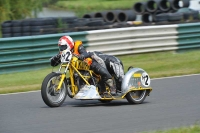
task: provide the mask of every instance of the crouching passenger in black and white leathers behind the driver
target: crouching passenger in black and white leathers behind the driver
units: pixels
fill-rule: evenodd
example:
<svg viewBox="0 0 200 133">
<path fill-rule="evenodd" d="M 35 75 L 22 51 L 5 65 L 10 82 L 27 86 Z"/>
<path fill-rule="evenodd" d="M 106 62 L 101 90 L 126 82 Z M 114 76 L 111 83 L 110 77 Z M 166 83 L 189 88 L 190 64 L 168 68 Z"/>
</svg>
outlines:
<svg viewBox="0 0 200 133">
<path fill-rule="evenodd" d="M 90 56 L 96 60 L 101 66 L 106 68 L 116 79 L 116 87 L 121 89 L 122 79 L 124 78 L 124 66 L 120 59 L 113 55 L 103 54 L 99 51 L 88 52 Z"/>
</svg>

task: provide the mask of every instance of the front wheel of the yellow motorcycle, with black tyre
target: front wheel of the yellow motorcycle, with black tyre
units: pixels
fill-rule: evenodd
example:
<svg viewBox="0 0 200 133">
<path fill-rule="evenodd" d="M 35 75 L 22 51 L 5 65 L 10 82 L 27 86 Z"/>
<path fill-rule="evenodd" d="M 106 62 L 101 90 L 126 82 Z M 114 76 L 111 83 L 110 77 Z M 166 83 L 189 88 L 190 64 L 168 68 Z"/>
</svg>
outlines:
<svg viewBox="0 0 200 133">
<path fill-rule="evenodd" d="M 49 107 L 59 107 L 63 104 L 67 96 L 66 80 L 61 85 L 60 90 L 56 90 L 61 79 L 60 73 L 52 72 L 48 74 L 41 86 L 41 95 L 44 103 Z"/>
</svg>

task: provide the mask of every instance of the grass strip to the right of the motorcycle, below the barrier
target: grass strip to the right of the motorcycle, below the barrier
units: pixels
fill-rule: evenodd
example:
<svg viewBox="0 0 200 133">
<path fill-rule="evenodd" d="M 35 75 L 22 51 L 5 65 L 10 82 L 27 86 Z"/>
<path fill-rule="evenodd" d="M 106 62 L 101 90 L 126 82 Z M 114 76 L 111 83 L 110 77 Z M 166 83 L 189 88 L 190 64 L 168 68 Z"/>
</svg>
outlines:
<svg viewBox="0 0 200 133">
<path fill-rule="evenodd" d="M 200 72 L 200 51 L 150 53 L 120 58 L 126 68 L 129 65 L 143 68 L 153 78 Z"/>
</svg>

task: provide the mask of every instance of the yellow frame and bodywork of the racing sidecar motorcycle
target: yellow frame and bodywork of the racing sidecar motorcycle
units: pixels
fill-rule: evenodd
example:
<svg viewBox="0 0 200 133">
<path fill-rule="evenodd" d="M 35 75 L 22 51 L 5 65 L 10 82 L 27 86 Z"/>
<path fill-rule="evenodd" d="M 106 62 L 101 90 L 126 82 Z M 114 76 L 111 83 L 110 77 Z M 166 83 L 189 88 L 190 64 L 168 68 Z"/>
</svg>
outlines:
<svg viewBox="0 0 200 133">
<path fill-rule="evenodd" d="M 70 65 L 69 65 L 70 64 Z M 77 93 L 78 93 L 78 86 L 74 83 L 74 72 L 77 72 L 78 75 L 83 79 L 83 81 L 87 84 L 87 85 L 90 85 L 89 82 L 88 82 L 88 79 L 91 78 L 92 76 L 95 76 L 98 81 L 100 80 L 100 75 L 97 75 L 95 74 L 92 70 L 90 70 L 90 66 L 88 65 L 87 62 L 85 61 L 81 61 L 81 60 L 78 60 L 78 58 L 76 56 L 73 56 L 72 57 L 72 60 L 70 63 L 66 63 L 66 64 L 62 64 L 61 67 L 63 68 L 66 68 L 67 66 L 69 65 L 68 67 L 68 71 L 69 71 L 69 78 L 70 78 L 70 82 L 71 82 L 71 93 L 72 93 L 72 96 L 75 96 Z M 84 70 L 84 71 L 88 71 L 90 75 L 82 75 L 80 73 L 81 70 Z M 135 73 L 133 75 L 134 78 L 139 78 L 141 77 L 141 74 L 140 73 Z M 58 84 L 58 87 L 56 88 L 56 91 L 60 90 L 61 86 L 62 86 L 62 83 L 63 81 L 65 80 L 66 78 L 66 73 L 62 73 L 61 74 L 61 78 L 60 78 L 60 82 Z M 97 92 L 98 92 L 98 88 L 97 89 Z M 125 98 L 126 94 L 128 92 L 131 92 L 131 91 L 138 91 L 138 90 L 150 90 L 152 91 L 152 88 L 142 88 L 142 87 L 138 87 L 138 88 L 135 88 L 135 87 L 132 87 L 129 89 L 128 92 L 126 92 L 125 94 L 121 95 L 121 96 L 112 96 L 109 92 L 109 88 L 107 87 L 106 88 L 107 92 L 108 92 L 108 95 L 110 97 L 105 97 L 105 96 L 102 96 L 102 98 L 100 100 L 115 100 L 115 99 L 123 99 Z M 99 92 L 98 92 L 99 93 Z"/>
</svg>

